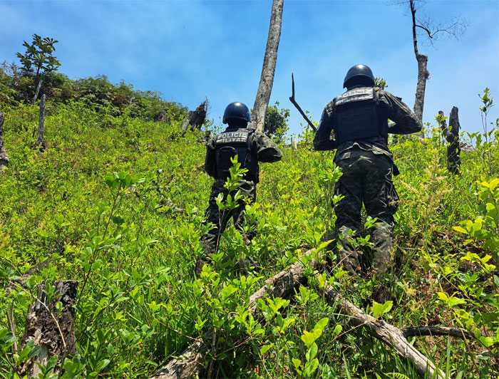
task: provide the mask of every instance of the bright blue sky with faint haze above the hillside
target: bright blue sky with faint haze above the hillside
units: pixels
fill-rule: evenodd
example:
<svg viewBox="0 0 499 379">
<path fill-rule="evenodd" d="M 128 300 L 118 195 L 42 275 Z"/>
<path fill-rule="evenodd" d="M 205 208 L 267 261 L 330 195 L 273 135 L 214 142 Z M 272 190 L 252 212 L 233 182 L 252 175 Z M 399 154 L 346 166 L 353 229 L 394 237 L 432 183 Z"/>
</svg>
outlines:
<svg viewBox="0 0 499 379">
<path fill-rule="evenodd" d="M 123 79 L 191 109 L 207 97 L 209 118 L 220 125 L 228 103 L 254 103 L 271 6 L 270 0 L 0 0 L 0 61 L 19 63 L 24 40 L 50 36 L 59 41 L 60 71 L 70 78 Z M 423 121 L 433 123 L 438 110 L 448 115 L 456 105 L 463 130 L 482 130 L 478 93 L 488 87 L 499 103 L 499 1 L 428 0 L 421 11 L 437 22 L 453 16 L 469 22 L 459 41 L 429 46 L 420 37 L 431 73 Z M 284 0 L 270 103 L 291 110 L 291 133 L 303 123 L 288 99 L 291 73 L 299 105 L 319 120 L 357 63 L 413 108 L 417 63 L 406 9 L 383 0 Z M 498 117 L 494 107 L 489 120 Z"/>
</svg>

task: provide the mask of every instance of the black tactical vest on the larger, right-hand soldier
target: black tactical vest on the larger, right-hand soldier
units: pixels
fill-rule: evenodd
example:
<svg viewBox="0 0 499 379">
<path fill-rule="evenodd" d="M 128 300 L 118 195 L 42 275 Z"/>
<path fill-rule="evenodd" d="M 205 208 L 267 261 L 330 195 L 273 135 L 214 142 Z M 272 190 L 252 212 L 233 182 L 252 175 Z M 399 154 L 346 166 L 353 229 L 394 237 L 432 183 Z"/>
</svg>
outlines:
<svg viewBox="0 0 499 379">
<path fill-rule="evenodd" d="M 380 119 L 382 108 L 378 90 L 379 88 L 374 87 L 354 88 L 334 98 L 334 137 L 338 145 L 369 137 L 388 137 L 386 120 L 384 122 Z"/>
</svg>

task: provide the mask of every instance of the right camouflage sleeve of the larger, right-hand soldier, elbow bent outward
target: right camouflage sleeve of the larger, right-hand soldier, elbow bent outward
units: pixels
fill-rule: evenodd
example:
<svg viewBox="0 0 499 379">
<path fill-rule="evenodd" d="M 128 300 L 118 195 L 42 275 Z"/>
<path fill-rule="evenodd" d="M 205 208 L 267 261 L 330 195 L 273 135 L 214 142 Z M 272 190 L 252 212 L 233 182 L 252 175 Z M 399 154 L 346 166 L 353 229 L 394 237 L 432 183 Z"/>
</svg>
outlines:
<svg viewBox="0 0 499 379">
<path fill-rule="evenodd" d="M 384 91 L 381 100 L 387 105 L 388 117 L 395 124 L 389 125 L 388 133 L 392 134 L 411 134 L 421 132 L 423 123 L 416 115 L 403 103 L 401 98 L 393 96 Z"/>
</svg>

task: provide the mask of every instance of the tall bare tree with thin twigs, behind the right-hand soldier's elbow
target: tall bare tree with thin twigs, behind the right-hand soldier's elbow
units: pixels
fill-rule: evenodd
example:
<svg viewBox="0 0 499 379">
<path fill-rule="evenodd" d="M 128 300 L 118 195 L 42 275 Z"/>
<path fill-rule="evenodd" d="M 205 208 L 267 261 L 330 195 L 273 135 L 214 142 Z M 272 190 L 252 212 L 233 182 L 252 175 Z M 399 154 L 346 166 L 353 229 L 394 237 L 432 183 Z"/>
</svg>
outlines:
<svg viewBox="0 0 499 379">
<path fill-rule="evenodd" d="M 454 17 L 453 21 L 450 23 L 436 23 L 421 11 L 421 4 L 426 4 L 426 0 L 393 1 L 392 4 L 404 7 L 408 6 L 408 9 L 411 11 L 414 54 L 416 55 L 416 61 L 418 62 L 418 83 L 416 85 L 416 99 L 414 100 L 414 114 L 416 114 L 420 120 L 423 120 L 426 81 L 430 77 L 430 73 L 426 68 L 428 56 L 421 54 L 418 49 L 418 36 L 428 36 L 428 41 L 432 45 L 433 42 L 437 41 L 441 36 L 459 38 L 465 32 L 468 21 L 458 16 Z M 416 12 L 418 11 L 418 16 L 416 16 Z"/>
</svg>

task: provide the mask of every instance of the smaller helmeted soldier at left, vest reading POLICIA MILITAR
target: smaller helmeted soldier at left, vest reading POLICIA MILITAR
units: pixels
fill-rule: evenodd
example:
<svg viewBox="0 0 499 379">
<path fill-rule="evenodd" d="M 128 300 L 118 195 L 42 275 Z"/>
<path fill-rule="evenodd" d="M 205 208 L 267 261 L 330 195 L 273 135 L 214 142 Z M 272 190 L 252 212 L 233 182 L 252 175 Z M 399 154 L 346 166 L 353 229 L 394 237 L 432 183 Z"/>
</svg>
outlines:
<svg viewBox="0 0 499 379">
<path fill-rule="evenodd" d="M 210 203 L 206 209 L 205 219 L 212 224 L 213 228 L 202 238 L 204 256 L 197 259 L 195 273 L 200 276 L 202 266 L 210 264 L 211 256 L 216 253 L 220 243 L 220 235 L 227 227 L 227 222 L 232 218 L 237 229 L 241 229 L 245 220 L 245 205 L 253 203 L 257 197 L 256 187 L 259 182 L 258 162 L 277 162 L 282 158 L 282 152 L 267 135 L 253 129 L 247 129 L 251 121 L 249 109 L 243 103 L 230 103 L 225 108 L 222 122 L 228 124 L 223 133 L 208 140 L 206 144 L 205 172 L 215 178 L 210 194 Z M 229 169 L 232 167 L 230 159 L 237 155 L 237 161 L 242 168 L 248 171 L 237 184 L 237 190 L 245 197 L 239 206 L 232 210 L 221 211 L 217 205 L 217 196 L 224 194 L 227 197 L 228 190 L 225 188 L 227 177 L 230 177 Z M 236 191 L 237 191 L 236 190 Z M 231 193 L 234 197 L 235 192 Z M 245 243 L 249 243 L 254 236 L 254 227 L 250 225 L 252 232 L 245 235 Z"/>
</svg>

